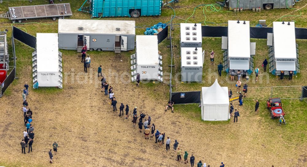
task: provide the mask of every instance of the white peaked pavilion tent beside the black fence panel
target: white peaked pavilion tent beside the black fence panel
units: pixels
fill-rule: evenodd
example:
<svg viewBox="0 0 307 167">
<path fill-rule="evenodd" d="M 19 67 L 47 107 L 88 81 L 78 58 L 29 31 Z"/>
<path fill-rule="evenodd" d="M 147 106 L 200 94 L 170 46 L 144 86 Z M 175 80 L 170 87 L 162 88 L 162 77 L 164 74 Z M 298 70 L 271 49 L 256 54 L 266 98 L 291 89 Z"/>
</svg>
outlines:
<svg viewBox="0 0 307 167">
<path fill-rule="evenodd" d="M 227 121 L 229 115 L 228 87 L 221 87 L 215 80 L 210 87 L 201 88 L 201 119 Z"/>
</svg>

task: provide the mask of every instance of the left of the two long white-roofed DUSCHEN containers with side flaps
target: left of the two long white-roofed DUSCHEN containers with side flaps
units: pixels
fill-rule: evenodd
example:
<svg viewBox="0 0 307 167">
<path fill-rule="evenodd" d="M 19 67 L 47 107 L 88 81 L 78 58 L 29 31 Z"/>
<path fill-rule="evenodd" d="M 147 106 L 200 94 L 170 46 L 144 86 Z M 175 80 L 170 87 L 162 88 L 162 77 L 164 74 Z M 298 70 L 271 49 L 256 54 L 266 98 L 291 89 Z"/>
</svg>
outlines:
<svg viewBox="0 0 307 167">
<path fill-rule="evenodd" d="M 254 70 L 256 43 L 250 42 L 249 21 L 228 21 L 228 37 L 222 37 L 223 71 Z"/>
</svg>

